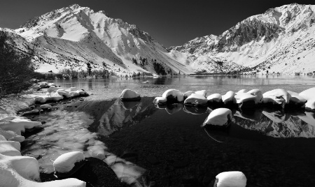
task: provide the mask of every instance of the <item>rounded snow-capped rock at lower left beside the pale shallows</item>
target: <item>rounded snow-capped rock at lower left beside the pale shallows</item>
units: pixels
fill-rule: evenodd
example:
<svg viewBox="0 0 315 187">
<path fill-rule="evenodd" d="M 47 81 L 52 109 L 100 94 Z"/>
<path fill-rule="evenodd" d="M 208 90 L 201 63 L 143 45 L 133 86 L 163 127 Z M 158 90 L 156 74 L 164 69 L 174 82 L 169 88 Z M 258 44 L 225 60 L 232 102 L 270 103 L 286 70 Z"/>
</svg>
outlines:
<svg viewBox="0 0 315 187">
<path fill-rule="evenodd" d="M 59 156 L 53 163 L 55 172 L 70 172 L 75 163 L 84 160 L 84 155 L 80 151 L 73 151 Z"/>
</svg>

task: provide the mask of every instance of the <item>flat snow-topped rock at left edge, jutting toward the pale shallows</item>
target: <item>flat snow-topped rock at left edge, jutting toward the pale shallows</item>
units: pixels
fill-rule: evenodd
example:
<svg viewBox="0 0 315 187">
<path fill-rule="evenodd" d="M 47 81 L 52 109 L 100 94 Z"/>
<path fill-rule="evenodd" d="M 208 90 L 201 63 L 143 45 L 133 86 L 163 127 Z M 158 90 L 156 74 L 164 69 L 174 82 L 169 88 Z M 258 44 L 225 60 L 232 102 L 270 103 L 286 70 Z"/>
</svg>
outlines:
<svg viewBox="0 0 315 187">
<path fill-rule="evenodd" d="M 29 119 L 13 119 L 0 122 L 0 128 L 2 130 L 10 130 L 17 135 L 21 135 L 21 133 L 24 133 L 25 129 L 31 129 L 38 126 L 41 126 L 41 122 L 31 121 Z"/>
</svg>

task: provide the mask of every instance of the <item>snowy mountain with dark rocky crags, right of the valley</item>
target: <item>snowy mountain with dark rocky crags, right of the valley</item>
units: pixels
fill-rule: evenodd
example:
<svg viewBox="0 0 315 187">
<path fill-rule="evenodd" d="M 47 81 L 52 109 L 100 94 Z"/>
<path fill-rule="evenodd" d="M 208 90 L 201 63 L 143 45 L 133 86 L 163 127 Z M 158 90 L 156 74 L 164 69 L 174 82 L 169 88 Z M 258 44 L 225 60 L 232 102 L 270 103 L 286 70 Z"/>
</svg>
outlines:
<svg viewBox="0 0 315 187">
<path fill-rule="evenodd" d="M 187 55 L 195 70 L 249 67 L 259 73 L 315 70 L 315 6 L 293 3 L 246 18 L 220 36 L 170 47 Z M 219 63 L 219 64 L 218 64 Z M 219 66 L 218 66 L 219 65 Z"/>
</svg>

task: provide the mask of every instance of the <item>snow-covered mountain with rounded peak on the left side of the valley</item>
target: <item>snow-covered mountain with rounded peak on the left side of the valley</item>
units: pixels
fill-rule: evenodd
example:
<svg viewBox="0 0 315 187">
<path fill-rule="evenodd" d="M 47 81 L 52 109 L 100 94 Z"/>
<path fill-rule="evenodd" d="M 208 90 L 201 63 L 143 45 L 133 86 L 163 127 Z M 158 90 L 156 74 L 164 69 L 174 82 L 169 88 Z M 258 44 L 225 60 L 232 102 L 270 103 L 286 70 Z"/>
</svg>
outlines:
<svg viewBox="0 0 315 187">
<path fill-rule="evenodd" d="M 92 69 L 106 68 L 118 75 L 158 74 L 156 60 L 167 72 L 193 73 L 183 54 L 168 52 L 135 25 L 77 4 L 34 17 L 12 32 L 22 36 L 15 38 L 20 43 L 37 45 L 34 61 L 39 72 L 86 70 L 90 61 Z M 140 64 L 140 58 L 147 61 Z"/>
</svg>

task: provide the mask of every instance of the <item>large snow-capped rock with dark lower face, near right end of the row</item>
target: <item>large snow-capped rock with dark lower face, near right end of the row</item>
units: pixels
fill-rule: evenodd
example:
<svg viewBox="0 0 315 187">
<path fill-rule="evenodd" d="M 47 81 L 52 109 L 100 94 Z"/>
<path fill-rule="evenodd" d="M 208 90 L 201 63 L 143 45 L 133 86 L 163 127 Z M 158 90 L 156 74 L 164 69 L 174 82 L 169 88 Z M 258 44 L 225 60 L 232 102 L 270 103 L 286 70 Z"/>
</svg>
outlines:
<svg viewBox="0 0 315 187">
<path fill-rule="evenodd" d="M 284 107 L 290 103 L 291 95 L 284 89 L 273 89 L 262 94 L 262 104 L 264 105 L 280 105 Z"/>
</svg>

